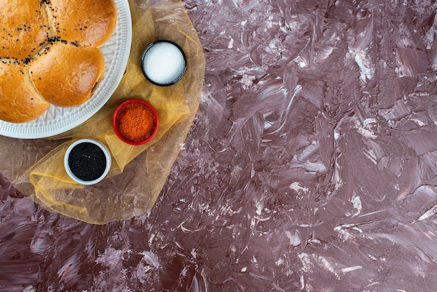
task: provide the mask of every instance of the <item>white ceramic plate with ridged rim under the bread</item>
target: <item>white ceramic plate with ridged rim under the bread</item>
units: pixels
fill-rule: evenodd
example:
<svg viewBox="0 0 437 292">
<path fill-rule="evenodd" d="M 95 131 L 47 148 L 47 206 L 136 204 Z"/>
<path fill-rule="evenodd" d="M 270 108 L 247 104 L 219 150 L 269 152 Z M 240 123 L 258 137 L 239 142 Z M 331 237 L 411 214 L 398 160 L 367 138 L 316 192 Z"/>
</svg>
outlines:
<svg viewBox="0 0 437 292">
<path fill-rule="evenodd" d="M 100 110 L 109 100 L 123 77 L 132 43 L 132 19 L 128 0 L 117 3 L 117 26 L 107 43 L 101 46 L 105 56 L 105 75 L 94 95 L 74 108 L 50 108 L 31 122 L 14 124 L 0 120 L 0 135 L 12 138 L 46 138 L 78 126 Z"/>
</svg>

